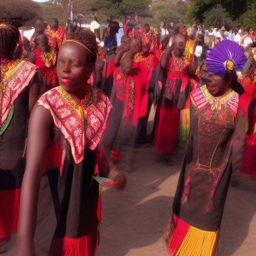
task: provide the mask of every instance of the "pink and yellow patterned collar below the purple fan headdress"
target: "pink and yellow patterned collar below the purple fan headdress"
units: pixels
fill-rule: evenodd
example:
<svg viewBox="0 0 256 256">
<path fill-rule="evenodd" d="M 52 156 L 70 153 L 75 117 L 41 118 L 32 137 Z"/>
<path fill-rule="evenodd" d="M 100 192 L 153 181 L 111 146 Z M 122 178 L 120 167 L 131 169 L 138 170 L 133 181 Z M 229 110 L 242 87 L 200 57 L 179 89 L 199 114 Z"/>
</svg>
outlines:
<svg viewBox="0 0 256 256">
<path fill-rule="evenodd" d="M 212 111 L 219 111 L 223 105 L 228 104 L 233 116 L 236 115 L 239 95 L 231 88 L 229 88 L 222 96 L 214 97 L 208 92 L 206 85 L 203 85 L 200 88 L 193 90 L 191 92 L 191 97 L 196 109 L 201 109 L 209 103 Z"/>
</svg>

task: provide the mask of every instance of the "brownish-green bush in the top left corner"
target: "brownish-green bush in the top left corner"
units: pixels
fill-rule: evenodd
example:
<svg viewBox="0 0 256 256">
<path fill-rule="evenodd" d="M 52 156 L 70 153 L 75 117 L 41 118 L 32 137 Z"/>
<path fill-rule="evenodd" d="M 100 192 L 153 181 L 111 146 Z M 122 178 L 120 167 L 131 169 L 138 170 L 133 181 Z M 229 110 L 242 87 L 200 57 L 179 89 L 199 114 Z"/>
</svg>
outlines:
<svg viewBox="0 0 256 256">
<path fill-rule="evenodd" d="M 0 18 L 18 21 L 19 25 L 31 23 L 35 16 L 41 16 L 40 5 L 31 0 L 1 0 Z"/>
</svg>

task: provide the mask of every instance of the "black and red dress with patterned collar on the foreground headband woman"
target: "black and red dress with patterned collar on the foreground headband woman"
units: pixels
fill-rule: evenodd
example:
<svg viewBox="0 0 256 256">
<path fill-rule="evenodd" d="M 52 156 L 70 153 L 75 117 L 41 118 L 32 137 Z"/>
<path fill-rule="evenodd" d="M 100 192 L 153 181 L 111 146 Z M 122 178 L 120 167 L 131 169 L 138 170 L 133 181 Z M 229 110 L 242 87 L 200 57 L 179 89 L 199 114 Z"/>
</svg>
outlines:
<svg viewBox="0 0 256 256">
<path fill-rule="evenodd" d="M 93 175 L 107 176 L 98 143 L 111 104 L 94 86 L 80 105 L 60 86 L 37 101 L 54 124 L 40 184 L 35 245 L 39 255 L 92 256 L 99 241 L 100 189 Z"/>
</svg>

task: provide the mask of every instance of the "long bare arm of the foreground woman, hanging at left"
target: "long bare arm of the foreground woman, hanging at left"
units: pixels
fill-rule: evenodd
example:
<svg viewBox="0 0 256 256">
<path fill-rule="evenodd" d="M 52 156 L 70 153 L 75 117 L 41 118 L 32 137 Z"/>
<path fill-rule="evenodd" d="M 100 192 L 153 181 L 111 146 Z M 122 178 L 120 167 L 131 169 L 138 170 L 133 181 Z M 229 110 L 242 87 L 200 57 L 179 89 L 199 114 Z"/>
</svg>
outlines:
<svg viewBox="0 0 256 256">
<path fill-rule="evenodd" d="M 42 106 L 35 106 L 33 108 L 29 119 L 26 168 L 21 187 L 16 252 L 18 256 L 34 255 L 32 248 L 37 201 L 51 122 L 52 117 L 48 110 Z"/>
</svg>

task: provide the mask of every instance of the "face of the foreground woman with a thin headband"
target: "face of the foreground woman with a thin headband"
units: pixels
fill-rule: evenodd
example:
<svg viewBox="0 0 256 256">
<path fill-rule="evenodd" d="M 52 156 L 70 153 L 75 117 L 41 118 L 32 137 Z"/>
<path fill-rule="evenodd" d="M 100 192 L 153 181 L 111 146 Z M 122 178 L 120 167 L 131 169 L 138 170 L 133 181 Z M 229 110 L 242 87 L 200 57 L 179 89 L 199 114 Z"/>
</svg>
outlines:
<svg viewBox="0 0 256 256">
<path fill-rule="evenodd" d="M 93 65 L 87 64 L 85 49 L 76 42 L 66 42 L 59 50 L 57 76 L 61 87 L 73 92 L 84 86 Z"/>
</svg>

